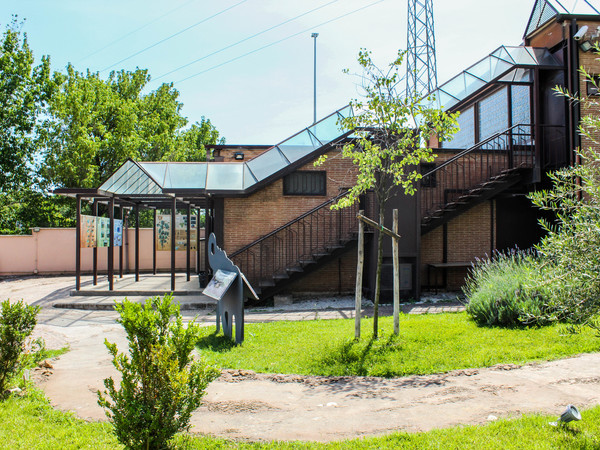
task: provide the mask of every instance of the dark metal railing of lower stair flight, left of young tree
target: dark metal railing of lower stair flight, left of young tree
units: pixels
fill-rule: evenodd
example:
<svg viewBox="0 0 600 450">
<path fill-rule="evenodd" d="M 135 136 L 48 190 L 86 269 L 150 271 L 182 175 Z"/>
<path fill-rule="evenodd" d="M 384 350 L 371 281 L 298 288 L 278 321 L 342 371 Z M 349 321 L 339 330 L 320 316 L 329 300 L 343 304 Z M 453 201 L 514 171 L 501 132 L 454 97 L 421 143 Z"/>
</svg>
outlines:
<svg viewBox="0 0 600 450">
<path fill-rule="evenodd" d="M 327 200 L 235 251 L 230 258 L 256 287 L 268 286 L 278 277 L 285 279 L 293 271 L 302 271 L 319 256 L 342 247 L 356 236 L 356 215 L 364 205 L 330 208 L 344 195 L 345 192 Z"/>
</svg>

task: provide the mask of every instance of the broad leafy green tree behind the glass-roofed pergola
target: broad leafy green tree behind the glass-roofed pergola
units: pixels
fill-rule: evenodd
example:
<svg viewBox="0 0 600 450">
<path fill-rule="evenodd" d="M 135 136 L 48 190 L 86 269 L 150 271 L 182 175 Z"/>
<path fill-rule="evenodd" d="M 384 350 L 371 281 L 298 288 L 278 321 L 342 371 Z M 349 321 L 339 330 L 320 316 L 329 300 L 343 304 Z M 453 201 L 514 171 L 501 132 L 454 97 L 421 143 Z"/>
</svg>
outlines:
<svg viewBox="0 0 600 450">
<path fill-rule="evenodd" d="M 41 128 L 46 144 L 48 182 L 63 187 L 97 187 L 124 161 L 190 161 L 203 159 L 204 145 L 219 133 L 210 121 L 189 130 L 181 115 L 179 92 L 162 84 L 145 94 L 147 70 L 83 74 L 72 66 L 57 75 L 48 119 Z"/>
</svg>

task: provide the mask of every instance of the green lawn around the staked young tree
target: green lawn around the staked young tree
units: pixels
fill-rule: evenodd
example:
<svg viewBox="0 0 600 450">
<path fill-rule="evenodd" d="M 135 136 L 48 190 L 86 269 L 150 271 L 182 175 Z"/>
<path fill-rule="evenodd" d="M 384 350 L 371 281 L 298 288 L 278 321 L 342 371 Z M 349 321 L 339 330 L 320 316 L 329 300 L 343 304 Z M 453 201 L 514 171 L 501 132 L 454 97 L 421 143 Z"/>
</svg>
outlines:
<svg viewBox="0 0 600 450">
<path fill-rule="evenodd" d="M 391 334 L 391 317 L 380 318 L 380 324 L 380 338 L 373 340 L 372 319 L 363 320 L 360 342 L 353 340 L 354 319 L 247 324 L 240 346 L 207 327 L 198 349 L 221 368 L 381 377 L 523 364 L 600 350 L 600 338 L 589 329 L 572 335 L 562 325 L 479 327 L 466 313 L 402 315 L 397 337 Z"/>
</svg>

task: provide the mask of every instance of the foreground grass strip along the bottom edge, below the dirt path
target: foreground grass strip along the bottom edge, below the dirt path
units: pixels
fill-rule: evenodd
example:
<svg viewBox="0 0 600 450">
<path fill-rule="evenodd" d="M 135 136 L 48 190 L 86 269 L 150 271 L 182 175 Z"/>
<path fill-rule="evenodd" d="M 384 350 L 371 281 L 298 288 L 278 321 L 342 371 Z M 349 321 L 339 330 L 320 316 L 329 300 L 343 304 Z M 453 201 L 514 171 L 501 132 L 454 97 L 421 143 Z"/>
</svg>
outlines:
<svg viewBox="0 0 600 450">
<path fill-rule="evenodd" d="M 583 420 L 564 427 L 548 425 L 556 417 L 525 416 L 485 426 L 454 427 L 428 433 L 394 433 L 320 444 L 314 442 L 234 442 L 179 435 L 173 448 L 191 449 L 597 449 L 600 407 L 582 412 Z M 0 403 L 0 447 L 7 449 L 122 448 L 106 423 L 88 423 L 52 409 L 40 391 Z"/>
</svg>

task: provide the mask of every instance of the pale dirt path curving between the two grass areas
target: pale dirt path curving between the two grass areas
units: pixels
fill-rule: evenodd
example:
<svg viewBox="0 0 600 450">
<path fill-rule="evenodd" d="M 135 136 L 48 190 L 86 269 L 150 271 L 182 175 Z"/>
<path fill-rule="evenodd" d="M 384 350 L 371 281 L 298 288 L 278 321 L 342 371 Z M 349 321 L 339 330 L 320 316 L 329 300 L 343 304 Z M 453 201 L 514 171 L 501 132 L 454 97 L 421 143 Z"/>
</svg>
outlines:
<svg viewBox="0 0 600 450">
<path fill-rule="evenodd" d="M 114 323 L 39 325 L 49 346 L 71 351 L 53 362 L 40 386 L 52 404 L 105 419 L 95 392 L 115 375 L 104 338 L 124 348 Z M 600 403 L 600 354 L 397 379 L 304 377 L 228 371 L 213 382 L 192 431 L 251 440 L 330 441 L 397 430 L 481 424 L 528 412 L 558 415 L 565 405 Z M 585 419 L 585 416 L 584 416 Z"/>
</svg>

